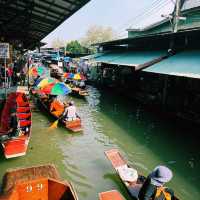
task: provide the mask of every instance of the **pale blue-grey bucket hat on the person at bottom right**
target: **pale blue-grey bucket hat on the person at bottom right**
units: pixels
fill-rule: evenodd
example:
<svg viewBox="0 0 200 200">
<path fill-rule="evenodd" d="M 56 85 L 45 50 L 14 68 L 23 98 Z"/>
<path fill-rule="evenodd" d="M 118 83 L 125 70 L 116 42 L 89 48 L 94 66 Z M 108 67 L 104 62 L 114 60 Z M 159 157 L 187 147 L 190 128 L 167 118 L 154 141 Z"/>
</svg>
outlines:
<svg viewBox="0 0 200 200">
<path fill-rule="evenodd" d="M 157 166 L 149 177 L 153 185 L 162 186 L 164 183 L 167 183 L 172 179 L 173 173 L 166 166 Z"/>
</svg>

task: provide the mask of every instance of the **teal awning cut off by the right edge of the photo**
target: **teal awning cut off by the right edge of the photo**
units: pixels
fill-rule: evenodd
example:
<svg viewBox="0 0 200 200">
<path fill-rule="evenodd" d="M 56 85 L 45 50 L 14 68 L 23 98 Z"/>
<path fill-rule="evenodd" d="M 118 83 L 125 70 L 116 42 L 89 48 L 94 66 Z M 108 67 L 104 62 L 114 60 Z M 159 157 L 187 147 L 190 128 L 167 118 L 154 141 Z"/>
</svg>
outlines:
<svg viewBox="0 0 200 200">
<path fill-rule="evenodd" d="M 144 69 L 145 72 L 200 78 L 200 50 L 177 53 Z"/>
</svg>

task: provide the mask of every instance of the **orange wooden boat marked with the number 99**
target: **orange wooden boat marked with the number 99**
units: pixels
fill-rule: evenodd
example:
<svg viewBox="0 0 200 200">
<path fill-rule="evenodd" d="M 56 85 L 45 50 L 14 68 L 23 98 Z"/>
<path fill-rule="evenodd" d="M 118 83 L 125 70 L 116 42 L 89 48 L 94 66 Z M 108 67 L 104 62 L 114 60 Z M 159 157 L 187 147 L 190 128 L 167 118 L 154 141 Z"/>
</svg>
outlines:
<svg viewBox="0 0 200 200">
<path fill-rule="evenodd" d="M 61 181 L 54 165 L 7 171 L 0 200 L 78 200 L 73 186 Z"/>
</svg>

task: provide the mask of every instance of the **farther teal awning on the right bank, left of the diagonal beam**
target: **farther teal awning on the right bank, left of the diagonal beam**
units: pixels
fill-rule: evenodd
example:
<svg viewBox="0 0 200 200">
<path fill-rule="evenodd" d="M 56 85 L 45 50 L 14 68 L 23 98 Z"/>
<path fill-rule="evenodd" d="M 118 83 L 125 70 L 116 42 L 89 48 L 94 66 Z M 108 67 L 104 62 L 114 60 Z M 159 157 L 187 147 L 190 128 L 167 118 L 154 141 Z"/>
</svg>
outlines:
<svg viewBox="0 0 200 200">
<path fill-rule="evenodd" d="M 138 66 L 165 56 L 166 54 L 164 51 L 110 52 L 95 58 L 95 60 L 97 62 L 115 65 Z"/>
</svg>

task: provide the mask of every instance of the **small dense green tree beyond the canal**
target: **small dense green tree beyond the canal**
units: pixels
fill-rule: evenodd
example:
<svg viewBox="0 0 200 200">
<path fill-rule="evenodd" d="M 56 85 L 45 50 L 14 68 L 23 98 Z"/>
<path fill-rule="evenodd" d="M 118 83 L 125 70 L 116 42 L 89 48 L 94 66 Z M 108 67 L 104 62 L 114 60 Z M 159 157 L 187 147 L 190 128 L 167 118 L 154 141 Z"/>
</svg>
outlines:
<svg viewBox="0 0 200 200">
<path fill-rule="evenodd" d="M 84 48 L 77 40 L 67 43 L 66 51 L 69 51 L 72 54 L 82 54 L 87 52 L 86 48 Z"/>
</svg>

